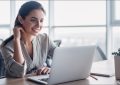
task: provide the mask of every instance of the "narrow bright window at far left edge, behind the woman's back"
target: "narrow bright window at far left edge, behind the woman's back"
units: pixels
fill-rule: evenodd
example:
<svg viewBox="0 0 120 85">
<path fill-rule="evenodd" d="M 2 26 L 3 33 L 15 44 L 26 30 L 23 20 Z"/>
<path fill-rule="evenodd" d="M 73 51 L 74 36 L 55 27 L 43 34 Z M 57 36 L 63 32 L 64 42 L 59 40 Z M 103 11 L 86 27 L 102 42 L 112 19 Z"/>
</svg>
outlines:
<svg viewBox="0 0 120 85">
<path fill-rule="evenodd" d="M 0 39 L 10 35 L 10 1 L 0 1 Z"/>
</svg>

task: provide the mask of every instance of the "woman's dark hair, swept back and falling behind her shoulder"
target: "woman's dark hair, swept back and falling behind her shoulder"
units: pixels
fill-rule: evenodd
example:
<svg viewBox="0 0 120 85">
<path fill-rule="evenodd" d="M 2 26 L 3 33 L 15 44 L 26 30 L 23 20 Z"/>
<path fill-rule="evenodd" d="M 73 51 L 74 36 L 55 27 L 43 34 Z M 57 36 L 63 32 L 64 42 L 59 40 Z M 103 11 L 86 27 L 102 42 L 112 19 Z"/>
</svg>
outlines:
<svg viewBox="0 0 120 85">
<path fill-rule="evenodd" d="M 39 3 L 39 2 L 36 2 L 36 1 L 28 1 L 26 3 L 24 3 L 21 8 L 19 9 L 19 12 L 17 14 L 17 17 L 15 19 L 15 23 L 14 23 L 14 27 L 15 26 L 20 26 L 22 27 L 22 24 L 19 22 L 18 20 L 18 16 L 20 15 L 22 17 L 22 19 L 25 19 L 26 16 L 29 15 L 29 13 L 35 9 L 40 9 L 42 10 L 44 13 L 45 13 L 45 10 L 43 8 L 43 6 Z M 5 46 L 8 42 L 10 42 L 12 39 L 14 38 L 14 36 L 10 36 L 8 39 L 6 39 L 2 46 Z"/>
</svg>

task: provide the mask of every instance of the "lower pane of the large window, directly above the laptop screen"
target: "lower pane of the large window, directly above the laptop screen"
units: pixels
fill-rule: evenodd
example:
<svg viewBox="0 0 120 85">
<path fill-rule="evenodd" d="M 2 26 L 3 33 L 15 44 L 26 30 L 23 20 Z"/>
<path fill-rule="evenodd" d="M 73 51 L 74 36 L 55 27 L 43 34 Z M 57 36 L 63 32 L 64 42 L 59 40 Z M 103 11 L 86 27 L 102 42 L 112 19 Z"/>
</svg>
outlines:
<svg viewBox="0 0 120 85">
<path fill-rule="evenodd" d="M 55 29 L 55 39 L 62 40 L 61 46 L 98 44 L 105 50 L 105 27 L 78 27 Z"/>
</svg>

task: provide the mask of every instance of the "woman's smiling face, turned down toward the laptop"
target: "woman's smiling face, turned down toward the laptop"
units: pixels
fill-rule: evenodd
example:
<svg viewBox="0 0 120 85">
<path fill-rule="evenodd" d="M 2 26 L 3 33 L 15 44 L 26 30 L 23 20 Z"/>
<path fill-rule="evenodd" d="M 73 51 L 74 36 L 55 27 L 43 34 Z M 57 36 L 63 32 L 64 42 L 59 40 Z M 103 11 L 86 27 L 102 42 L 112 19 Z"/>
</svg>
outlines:
<svg viewBox="0 0 120 85">
<path fill-rule="evenodd" d="M 42 29 L 44 12 L 40 9 L 33 10 L 23 19 L 22 25 L 28 35 L 36 36 Z"/>
</svg>

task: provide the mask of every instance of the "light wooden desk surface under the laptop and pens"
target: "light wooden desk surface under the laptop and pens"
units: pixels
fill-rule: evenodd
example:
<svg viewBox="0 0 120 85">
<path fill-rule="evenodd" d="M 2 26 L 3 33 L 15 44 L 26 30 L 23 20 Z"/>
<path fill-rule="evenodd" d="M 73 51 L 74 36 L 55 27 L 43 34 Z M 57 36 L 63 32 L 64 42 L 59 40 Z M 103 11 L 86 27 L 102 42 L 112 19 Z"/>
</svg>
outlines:
<svg viewBox="0 0 120 85">
<path fill-rule="evenodd" d="M 113 72 L 114 73 L 114 62 L 113 60 L 99 61 L 93 64 L 92 72 Z M 98 80 L 95 80 L 92 77 L 88 77 L 85 80 L 78 80 L 68 83 L 63 83 L 59 85 L 92 85 L 92 84 L 108 84 L 108 85 L 117 85 L 115 76 L 113 77 L 99 77 L 95 76 Z M 31 81 L 27 81 L 26 78 L 3 78 L 0 79 L 0 85 L 40 85 Z"/>
</svg>

